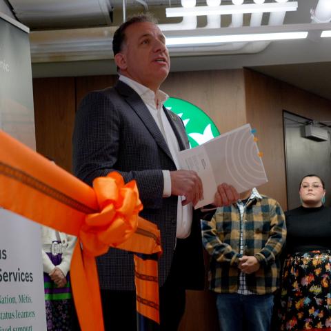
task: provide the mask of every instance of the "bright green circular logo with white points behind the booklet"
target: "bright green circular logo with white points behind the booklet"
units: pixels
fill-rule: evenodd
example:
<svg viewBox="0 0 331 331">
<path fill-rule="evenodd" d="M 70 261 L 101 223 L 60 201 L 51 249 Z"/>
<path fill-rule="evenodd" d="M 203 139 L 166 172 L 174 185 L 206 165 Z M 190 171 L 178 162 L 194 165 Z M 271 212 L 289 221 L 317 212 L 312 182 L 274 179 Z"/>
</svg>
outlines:
<svg viewBox="0 0 331 331">
<path fill-rule="evenodd" d="M 165 101 L 164 106 L 181 117 L 191 148 L 219 136 L 219 130 L 210 117 L 192 103 L 182 99 L 169 98 Z"/>
</svg>

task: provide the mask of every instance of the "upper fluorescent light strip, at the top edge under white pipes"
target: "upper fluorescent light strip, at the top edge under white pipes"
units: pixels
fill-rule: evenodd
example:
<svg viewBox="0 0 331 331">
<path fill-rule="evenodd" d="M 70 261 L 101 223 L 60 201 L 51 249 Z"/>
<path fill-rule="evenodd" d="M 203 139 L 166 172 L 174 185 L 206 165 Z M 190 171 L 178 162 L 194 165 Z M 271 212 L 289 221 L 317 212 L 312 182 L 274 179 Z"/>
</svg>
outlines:
<svg viewBox="0 0 331 331">
<path fill-rule="evenodd" d="M 298 8 L 297 1 L 285 3 L 252 3 L 248 5 L 199 6 L 192 8 L 165 8 L 166 17 L 249 14 L 252 12 L 290 12 Z"/>
</svg>

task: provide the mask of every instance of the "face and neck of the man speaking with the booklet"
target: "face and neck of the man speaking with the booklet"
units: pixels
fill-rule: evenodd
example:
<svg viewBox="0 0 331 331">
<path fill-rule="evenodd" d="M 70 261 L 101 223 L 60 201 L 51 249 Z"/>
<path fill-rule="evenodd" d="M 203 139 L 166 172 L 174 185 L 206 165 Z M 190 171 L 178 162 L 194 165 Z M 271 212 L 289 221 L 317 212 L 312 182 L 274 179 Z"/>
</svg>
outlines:
<svg viewBox="0 0 331 331">
<path fill-rule="evenodd" d="M 115 55 L 120 73 L 154 92 L 168 76 L 170 58 L 165 37 L 154 23 L 133 23 L 125 31 L 126 41 Z"/>
</svg>

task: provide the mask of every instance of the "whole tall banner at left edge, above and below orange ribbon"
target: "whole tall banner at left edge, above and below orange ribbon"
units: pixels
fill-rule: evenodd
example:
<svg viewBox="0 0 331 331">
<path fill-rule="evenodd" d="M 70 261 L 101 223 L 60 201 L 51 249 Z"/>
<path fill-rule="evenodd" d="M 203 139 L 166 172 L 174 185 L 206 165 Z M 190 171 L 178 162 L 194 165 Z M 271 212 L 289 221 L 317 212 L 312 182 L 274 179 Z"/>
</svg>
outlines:
<svg viewBox="0 0 331 331">
<path fill-rule="evenodd" d="M 35 149 L 28 31 L 0 12 L 0 130 Z M 0 331 L 32 330 L 46 330 L 40 225 L 0 206 Z"/>
</svg>

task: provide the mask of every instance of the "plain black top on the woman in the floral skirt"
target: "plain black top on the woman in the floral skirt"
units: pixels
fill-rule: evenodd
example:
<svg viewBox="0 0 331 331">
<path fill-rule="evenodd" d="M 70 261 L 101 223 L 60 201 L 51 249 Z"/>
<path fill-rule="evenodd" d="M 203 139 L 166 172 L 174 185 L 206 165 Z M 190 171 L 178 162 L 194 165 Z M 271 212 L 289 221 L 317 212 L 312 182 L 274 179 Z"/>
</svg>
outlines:
<svg viewBox="0 0 331 331">
<path fill-rule="evenodd" d="M 331 208 L 303 206 L 285 212 L 286 253 L 331 250 Z"/>
</svg>

